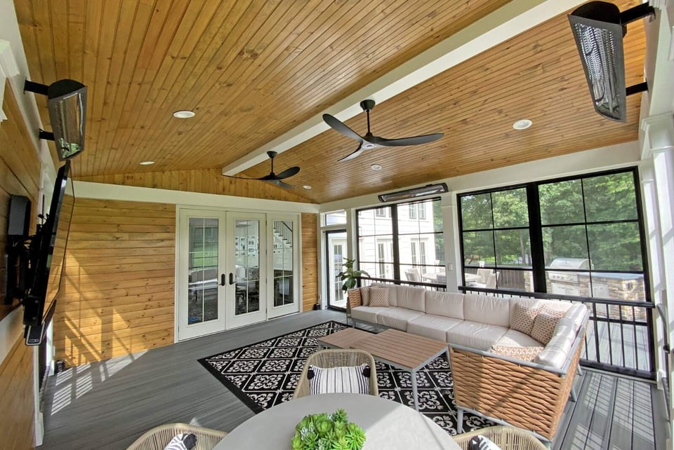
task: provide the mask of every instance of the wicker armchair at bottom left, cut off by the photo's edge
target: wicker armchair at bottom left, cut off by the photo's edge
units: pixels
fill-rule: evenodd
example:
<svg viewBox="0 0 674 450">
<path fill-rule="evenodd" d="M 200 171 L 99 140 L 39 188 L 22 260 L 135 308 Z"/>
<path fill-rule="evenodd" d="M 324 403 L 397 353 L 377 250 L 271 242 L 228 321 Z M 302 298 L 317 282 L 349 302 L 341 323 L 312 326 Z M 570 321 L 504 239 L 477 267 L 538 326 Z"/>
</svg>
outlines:
<svg viewBox="0 0 674 450">
<path fill-rule="evenodd" d="M 194 450 L 212 450 L 227 435 L 226 431 L 187 425 L 187 423 L 167 423 L 147 430 L 126 450 L 164 450 L 171 439 L 180 433 L 192 433 L 197 436 Z"/>
</svg>

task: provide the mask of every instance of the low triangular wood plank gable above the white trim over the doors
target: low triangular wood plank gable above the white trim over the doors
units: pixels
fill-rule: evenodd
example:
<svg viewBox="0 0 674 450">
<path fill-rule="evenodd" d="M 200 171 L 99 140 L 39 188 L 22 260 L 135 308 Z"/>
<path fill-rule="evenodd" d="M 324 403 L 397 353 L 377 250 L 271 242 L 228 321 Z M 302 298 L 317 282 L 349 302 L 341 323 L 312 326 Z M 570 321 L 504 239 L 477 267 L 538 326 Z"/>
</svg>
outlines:
<svg viewBox="0 0 674 450">
<path fill-rule="evenodd" d="M 74 177 L 83 182 L 121 184 L 173 191 L 216 193 L 225 196 L 270 198 L 289 202 L 309 203 L 310 200 L 297 193 L 260 181 L 232 179 L 220 175 L 219 169 L 178 170 L 174 172 L 144 172 L 123 175 L 97 175 Z"/>
</svg>

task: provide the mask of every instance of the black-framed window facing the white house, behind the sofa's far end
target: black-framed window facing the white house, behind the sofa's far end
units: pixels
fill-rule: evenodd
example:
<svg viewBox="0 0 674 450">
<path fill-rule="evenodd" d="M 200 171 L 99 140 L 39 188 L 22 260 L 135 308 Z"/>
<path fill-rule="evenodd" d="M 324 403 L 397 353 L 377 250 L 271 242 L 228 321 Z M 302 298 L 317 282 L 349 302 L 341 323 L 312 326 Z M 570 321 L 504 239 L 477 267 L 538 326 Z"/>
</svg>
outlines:
<svg viewBox="0 0 674 450">
<path fill-rule="evenodd" d="M 357 229 L 359 267 L 372 277 L 444 284 L 439 198 L 358 210 Z"/>
</svg>

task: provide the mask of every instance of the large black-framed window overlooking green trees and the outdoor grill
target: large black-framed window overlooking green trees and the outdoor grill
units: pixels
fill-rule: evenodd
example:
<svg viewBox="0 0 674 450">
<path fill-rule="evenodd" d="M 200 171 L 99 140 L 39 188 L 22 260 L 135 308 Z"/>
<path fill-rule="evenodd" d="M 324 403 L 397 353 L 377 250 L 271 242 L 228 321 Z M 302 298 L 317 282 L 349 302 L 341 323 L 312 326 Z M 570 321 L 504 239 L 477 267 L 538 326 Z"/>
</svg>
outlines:
<svg viewBox="0 0 674 450">
<path fill-rule="evenodd" d="M 465 285 L 648 299 L 637 186 L 630 168 L 459 194 Z"/>
</svg>

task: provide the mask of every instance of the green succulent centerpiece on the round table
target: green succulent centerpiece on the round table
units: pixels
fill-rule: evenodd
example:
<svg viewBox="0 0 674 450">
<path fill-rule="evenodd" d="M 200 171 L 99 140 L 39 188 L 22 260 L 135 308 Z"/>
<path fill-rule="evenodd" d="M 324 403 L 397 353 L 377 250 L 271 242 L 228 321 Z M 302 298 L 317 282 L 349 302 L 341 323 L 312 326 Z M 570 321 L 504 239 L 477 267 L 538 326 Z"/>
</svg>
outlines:
<svg viewBox="0 0 674 450">
<path fill-rule="evenodd" d="M 346 412 L 338 409 L 333 414 L 310 414 L 295 426 L 292 450 L 360 450 L 365 443 L 365 432 L 355 423 L 349 423 Z"/>
</svg>

